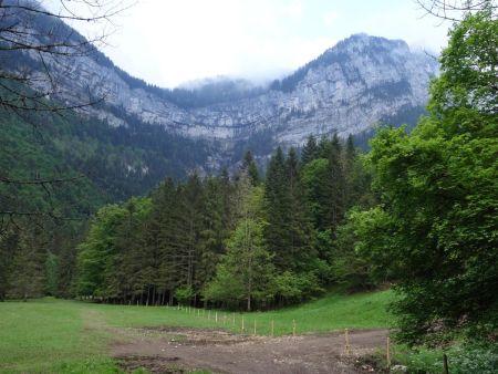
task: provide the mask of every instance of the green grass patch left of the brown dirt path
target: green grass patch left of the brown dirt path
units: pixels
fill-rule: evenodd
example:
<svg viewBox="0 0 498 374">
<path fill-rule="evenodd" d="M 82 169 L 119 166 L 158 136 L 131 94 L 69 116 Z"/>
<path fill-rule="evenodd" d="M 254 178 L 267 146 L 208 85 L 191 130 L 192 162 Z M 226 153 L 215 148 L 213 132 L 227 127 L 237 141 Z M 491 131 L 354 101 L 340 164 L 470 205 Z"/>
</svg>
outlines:
<svg viewBox="0 0 498 374">
<path fill-rule="evenodd" d="M 0 371 L 112 372 L 108 336 L 85 326 L 83 310 L 53 299 L 0 303 Z"/>
</svg>

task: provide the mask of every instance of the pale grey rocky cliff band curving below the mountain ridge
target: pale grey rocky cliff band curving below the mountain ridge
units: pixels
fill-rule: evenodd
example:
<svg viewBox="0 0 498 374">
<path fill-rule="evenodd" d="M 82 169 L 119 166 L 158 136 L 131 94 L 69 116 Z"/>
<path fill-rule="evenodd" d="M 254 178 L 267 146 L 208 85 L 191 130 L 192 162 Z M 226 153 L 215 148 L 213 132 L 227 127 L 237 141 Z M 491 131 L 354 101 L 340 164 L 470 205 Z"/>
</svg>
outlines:
<svg viewBox="0 0 498 374">
<path fill-rule="evenodd" d="M 59 96 L 77 102 L 89 91 L 104 95 L 105 104 L 86 114 L 112 126 L 126 126 L 133 116 L 186 137 L 219 141 L 226 149 L 262 133 L 287 146 L 309 134 L 359 134 L 422 111 L 435 74 L 437 62 L 405 42 L 356 34 L 282 81 L 207 105 L 178 104 L 175 92 L 131 77 L 100 53 L 72 61 Z"/>
</svg>

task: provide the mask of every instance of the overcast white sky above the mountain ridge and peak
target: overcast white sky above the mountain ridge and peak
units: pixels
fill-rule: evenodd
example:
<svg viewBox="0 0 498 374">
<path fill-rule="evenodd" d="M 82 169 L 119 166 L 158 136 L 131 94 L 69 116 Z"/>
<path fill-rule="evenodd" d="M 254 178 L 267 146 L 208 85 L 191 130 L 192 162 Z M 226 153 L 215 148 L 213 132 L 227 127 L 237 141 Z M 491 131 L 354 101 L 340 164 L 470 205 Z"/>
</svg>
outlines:
<svg viewBox="0 0 498 374">
<path fill-rule="evenodd" d="M 450 24 L 423 15 L 414 0 L 139 0 L 114 18 L 103 52 L 165 87 L 218 75 L 262 81 L 359 32 L 438 52 Z"/>
</svg>

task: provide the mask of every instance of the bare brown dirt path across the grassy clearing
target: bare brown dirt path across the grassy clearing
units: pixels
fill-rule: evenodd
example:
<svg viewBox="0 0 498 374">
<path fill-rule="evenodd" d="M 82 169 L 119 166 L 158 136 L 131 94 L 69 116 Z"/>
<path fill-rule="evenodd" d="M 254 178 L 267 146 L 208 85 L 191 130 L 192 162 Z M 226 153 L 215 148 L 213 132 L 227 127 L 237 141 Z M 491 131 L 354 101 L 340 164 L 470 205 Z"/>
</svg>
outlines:
<svg viewBox="0 0 498 374">
<path fill-rule="evenodd" d="M 385 330 L 350 332 L 351 354 L 345 355 L 339 333 L 267 337 L 181 328 L 136 330 L 137 339 L 116 344 L 112 354 L 125 370 L 152 373 L 364 373 L 354 367 L 354 357 L 383 346 L 387 335 Z"/>
</svg>

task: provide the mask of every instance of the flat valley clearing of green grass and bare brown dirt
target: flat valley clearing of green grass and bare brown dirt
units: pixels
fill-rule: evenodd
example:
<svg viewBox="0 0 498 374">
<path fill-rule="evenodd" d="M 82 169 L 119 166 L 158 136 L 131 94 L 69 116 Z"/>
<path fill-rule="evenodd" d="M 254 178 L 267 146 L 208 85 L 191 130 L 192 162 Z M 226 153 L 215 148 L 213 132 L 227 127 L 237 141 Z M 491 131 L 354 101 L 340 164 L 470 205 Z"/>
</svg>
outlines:
<svg viewBox="0 0 498 374">
<path fill-rule="evenodd" d="M 0 373 L 355 373 L 385 344 L 391 291 L 330 294 L 272 312 L 105 305 L 41 299 L 0 303 Z M 243 332 L 242 328 L 243 318 Z M 257 333 L 253 334 L 255 322 Z M 295 336 L 292 336 L 295 322 Z M 271 325 L 273 335 L 270 337 Z M 344 354 L 350 329 L 351 354 Z"/>
</svg>

